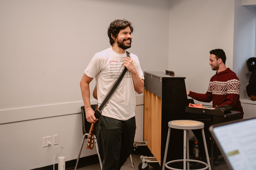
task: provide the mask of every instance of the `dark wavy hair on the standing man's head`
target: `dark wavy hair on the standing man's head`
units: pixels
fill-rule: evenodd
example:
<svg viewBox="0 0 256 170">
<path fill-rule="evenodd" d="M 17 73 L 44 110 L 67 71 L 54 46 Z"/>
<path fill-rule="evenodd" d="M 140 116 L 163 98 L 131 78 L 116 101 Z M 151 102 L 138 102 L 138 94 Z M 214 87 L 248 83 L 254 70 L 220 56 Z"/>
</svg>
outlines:
<svg viewBox="0 0 256 170">
<path fill-rule="evenodd" d="M 108 37 L 109 37 L 109 43 L 111 46 L 113 46 L 114 44 L 114 40 L 111 37 L 111 34 L 113 35 L 114 38 L 116 38 L 117 35 L 119 34 L 119 31 L 123 30 L 126 27 L 130 27 L 131 32 L 133 32 L 132 23 L 127 21 L 126 19 L 123 19 L 123 20 L 116 19 L 110 23 L 108 27 Z"/>
</svg>

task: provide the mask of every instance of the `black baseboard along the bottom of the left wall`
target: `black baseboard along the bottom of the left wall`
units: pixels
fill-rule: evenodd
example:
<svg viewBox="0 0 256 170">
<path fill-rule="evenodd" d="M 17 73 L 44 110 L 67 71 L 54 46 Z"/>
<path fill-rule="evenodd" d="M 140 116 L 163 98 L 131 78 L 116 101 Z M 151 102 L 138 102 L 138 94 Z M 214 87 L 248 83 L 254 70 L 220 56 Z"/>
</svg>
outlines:
<svg viewBox="0 0 256 170">
<path fill-rule="evenodd" d="M 96 163 L 99 163 L 98 155 L 97 154 L 90 155 L 90 156 L 87 156 L 87 157 L 79 158 L 77 168 L 93 165 L 93 164 L 96 164 Z M 65 170 L 74 170 L 75 166 L 76 166 L 76 159 L 65 162 Z M 58 169 L 58 164 L 54 165 L 54 169 Z M 40 167 L 40 168 L 35 168 L 35 169 L 32 169 L 32 170 L 53 170 L 53 165 L 48 165 L 48 166 L 44 166 L 44 167 Z"/>
</svg>

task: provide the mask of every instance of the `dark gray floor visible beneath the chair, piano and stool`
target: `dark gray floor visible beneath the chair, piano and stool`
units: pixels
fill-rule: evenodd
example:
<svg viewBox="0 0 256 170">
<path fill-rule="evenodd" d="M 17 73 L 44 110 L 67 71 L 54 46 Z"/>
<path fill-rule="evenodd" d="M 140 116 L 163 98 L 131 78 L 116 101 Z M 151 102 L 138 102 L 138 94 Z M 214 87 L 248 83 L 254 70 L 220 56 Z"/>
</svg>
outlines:
<svg viewBox="0 0 256 170">
<path fill-rule="evenodd" d="M 121 170 L 138 170 L 138 165 L 142 163 L 142 161 L 140 160 L 140 156 L 141 155 L 132 155 L 135 169 L 132 169 L 131 161 L 128 158 L 125 164 L 122 166 Z M 79 168 L 78 170 L 100 170 L 100 169 L 101 167 L 99 166 L 99 163 L 97 163 L 95 165 Z M 149 170 L 155 170 L 155 169 L 152 166 L 149 166 Z M 218 166 L 214 166 L 214 170 L 228 170 L 228 167 L 225 161 L 222 159 L 222 161 L 219 162 Z"/>
</svg>

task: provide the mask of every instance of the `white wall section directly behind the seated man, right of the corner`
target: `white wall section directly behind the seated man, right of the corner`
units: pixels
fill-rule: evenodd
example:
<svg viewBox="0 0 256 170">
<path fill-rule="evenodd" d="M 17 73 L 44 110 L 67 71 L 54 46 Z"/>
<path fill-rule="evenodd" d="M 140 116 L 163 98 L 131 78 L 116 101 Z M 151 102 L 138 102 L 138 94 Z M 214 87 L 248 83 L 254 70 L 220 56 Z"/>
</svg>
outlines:
<svg viewBox="0 0 256 170">
<path fill-rule="evenodd" d="M 223 49 L 233 66 L 234 1 L 172 0 L 169 17 L 169 70 L 186 77 L 187 89 L 206 93 L 215 74 L 209 52 Z"/>
</svg>

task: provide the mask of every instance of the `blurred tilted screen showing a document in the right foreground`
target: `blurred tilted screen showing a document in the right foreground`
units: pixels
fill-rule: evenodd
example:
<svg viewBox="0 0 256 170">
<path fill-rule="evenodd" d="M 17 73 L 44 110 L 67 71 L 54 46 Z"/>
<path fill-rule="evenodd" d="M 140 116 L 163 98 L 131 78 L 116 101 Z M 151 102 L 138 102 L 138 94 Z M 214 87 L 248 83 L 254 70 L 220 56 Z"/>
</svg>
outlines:
<svg viewBox="0 0 256 170">
<path fill-rule="evenodd" d="M 210 131 L 230 168 L 256 169 L 256 119 L 213 125 Z"/>
</svg>

